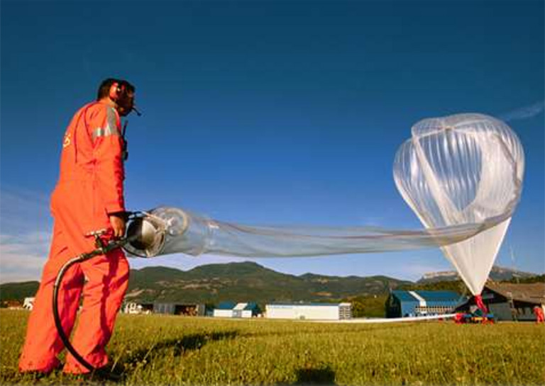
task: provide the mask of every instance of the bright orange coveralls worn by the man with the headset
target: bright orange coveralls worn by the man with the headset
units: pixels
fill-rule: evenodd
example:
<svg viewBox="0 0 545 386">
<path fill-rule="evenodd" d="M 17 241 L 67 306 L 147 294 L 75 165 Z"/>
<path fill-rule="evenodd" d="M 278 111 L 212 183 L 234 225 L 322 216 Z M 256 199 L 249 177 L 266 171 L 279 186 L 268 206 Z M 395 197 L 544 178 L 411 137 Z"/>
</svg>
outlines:
<svg viewBox="0 0 545 386">
<path fill-rule="evenodd" d="M 19 361 L 21 371 L 48 373 L 60 365 L 57 354 L 63 345 L 51 309 L 59 268 L 68 259 L 95 249 L 94 238 L 85 234 L 109 228 L 109 213 L 125 210 L 120 130 L 117 111 L 100 102 L 78 110 L 66 130 L 60 177 L 51 195 L 53 240 L 28 319 Z M 110 339 L 127 285 L 128 263 L 121 249 L 75 264 L 62 280 L 58 297 L 62 325 L 70 336 L 83 293 L 72 346 L 94 367 L 108 363 L 104 346 Z M 88 372 L 71 355 L 63 370 Z"/>
</svg>

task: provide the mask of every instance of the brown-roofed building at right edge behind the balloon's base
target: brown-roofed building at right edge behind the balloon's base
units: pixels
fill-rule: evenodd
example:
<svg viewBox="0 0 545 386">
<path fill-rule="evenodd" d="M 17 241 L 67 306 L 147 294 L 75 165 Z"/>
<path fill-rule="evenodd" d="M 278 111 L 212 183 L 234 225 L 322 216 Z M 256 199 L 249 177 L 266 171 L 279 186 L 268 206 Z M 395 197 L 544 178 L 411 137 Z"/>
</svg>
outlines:
<svg viewBox="0 0 545 386">
<path fill-rule="evenodd" d="M 535 306 L 545 308 L 545 283 L 487 283 L 481 293 L 483 302 L 496 320 L 535 320 Z M 470 297 L 458 311 L 473 311 Z"/>
</svg>

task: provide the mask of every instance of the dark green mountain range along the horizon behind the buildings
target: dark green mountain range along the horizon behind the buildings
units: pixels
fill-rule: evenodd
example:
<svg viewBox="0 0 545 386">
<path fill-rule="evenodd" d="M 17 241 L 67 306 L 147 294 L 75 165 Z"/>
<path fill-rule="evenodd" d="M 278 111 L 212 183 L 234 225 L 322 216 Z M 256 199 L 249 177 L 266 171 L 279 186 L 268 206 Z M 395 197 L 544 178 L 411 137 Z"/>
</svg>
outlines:
<svg viewBox="0 0 545 386">
<path fill-rule="evenodd" d="M 492 280 L 534 276 L 532 273 L 495 267 Z M 416 284 L 459 280 L 456 272 L 424 275 Z M 38 282 L 0 285 L 0 300 L 34 296 Z M 387 276 L 325 276 L 314 273 L 294 276 L 279 273 L 253 262 L 208 264 L 189 271 L 167 267 L 131 270 L 127 301 L 191 302 L 328 302 L 385 295 L 390 289 L 410 288 L 415 283 Z"/>
</svg>

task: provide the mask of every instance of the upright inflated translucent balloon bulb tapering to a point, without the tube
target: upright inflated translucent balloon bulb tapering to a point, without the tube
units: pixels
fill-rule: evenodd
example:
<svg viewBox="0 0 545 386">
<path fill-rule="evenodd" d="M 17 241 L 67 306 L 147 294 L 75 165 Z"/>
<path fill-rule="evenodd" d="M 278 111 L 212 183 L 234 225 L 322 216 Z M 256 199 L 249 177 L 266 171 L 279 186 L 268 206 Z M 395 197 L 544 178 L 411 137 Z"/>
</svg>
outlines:
<svg viewBox="0 0 545 386">
<path fill-rule="evenodd" d="M 487 228 L 464 242 L 441 246 L 475 295 L 483 290 L 510 224 L 523 174 L 517 135 L 482 114 L 422 120 L 395 157 L 396 186 L 425 227 Z"/>
</svg>

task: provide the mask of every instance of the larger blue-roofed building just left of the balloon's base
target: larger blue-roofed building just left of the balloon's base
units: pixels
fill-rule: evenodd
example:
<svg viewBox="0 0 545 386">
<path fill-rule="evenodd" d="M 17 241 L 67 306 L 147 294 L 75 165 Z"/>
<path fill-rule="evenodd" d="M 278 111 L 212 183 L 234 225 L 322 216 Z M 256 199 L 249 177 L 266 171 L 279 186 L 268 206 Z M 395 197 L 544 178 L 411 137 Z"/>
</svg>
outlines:
<svg viewBox="0 0 545 386">
<path fill-rule="evenodd" d="M 461 300 L 454 291 L 393 290 L 386 300 L 387 317 L 441 315 L 453 312 Z"/>
</svg>

